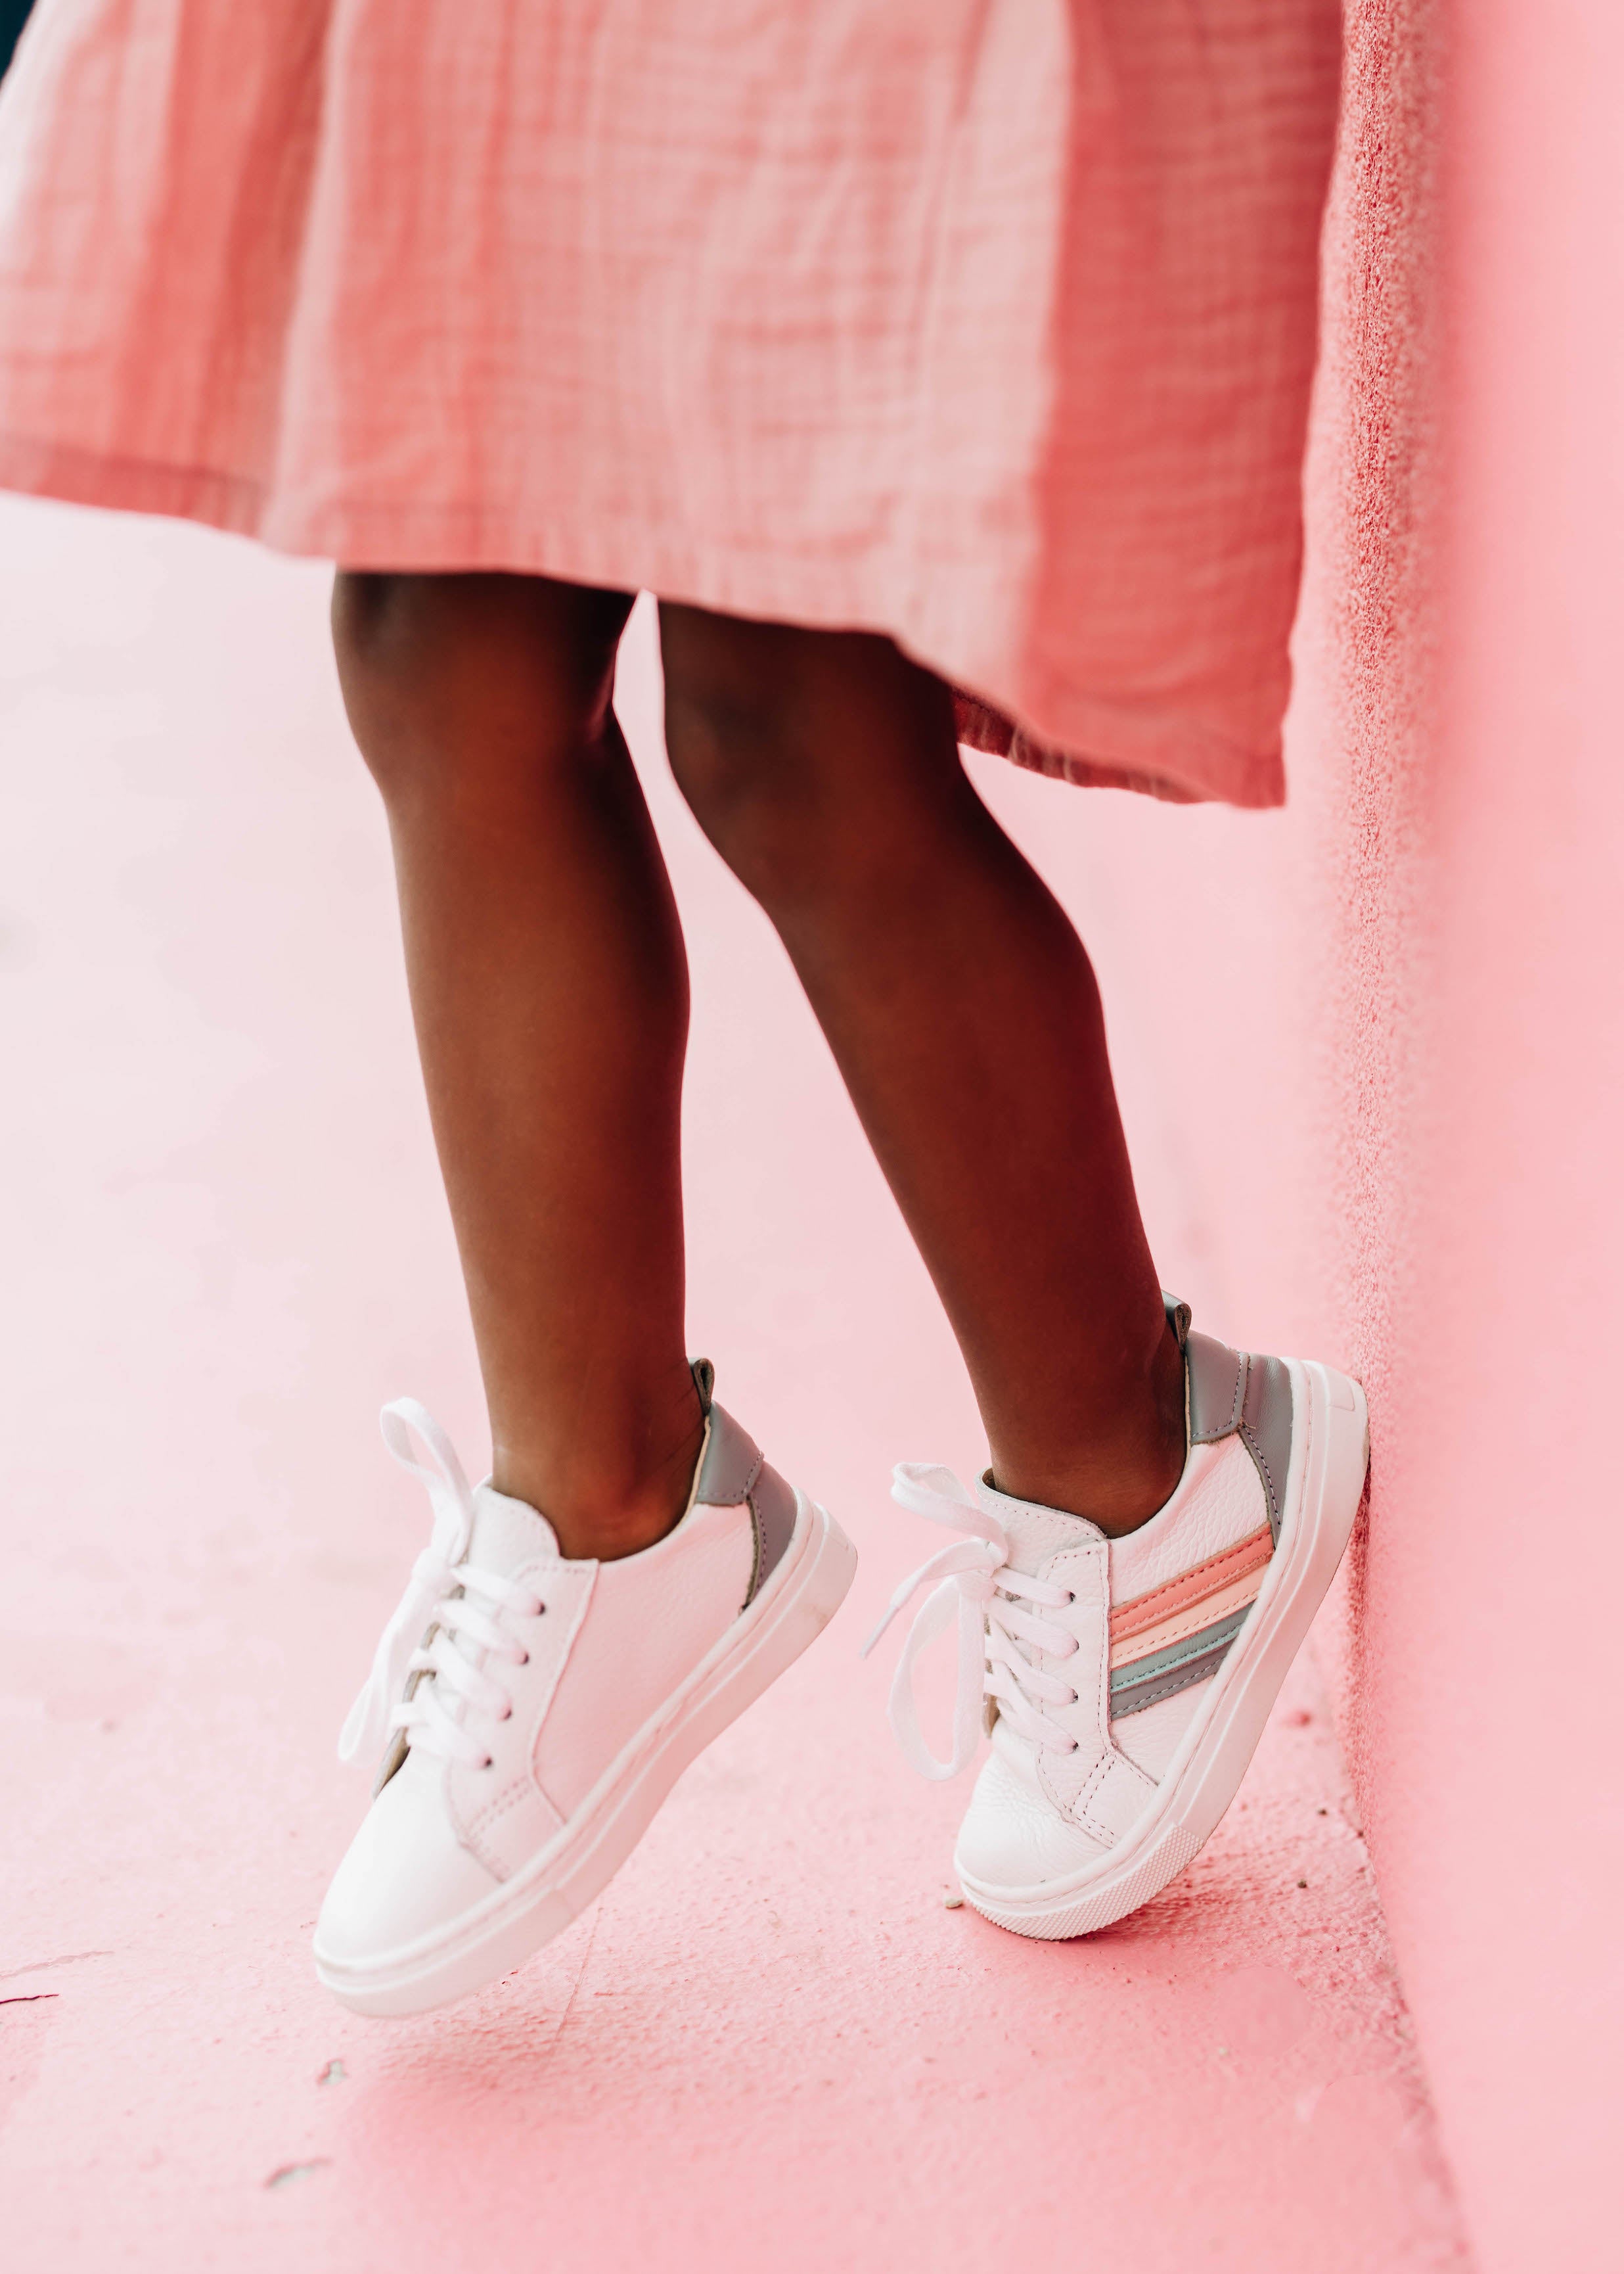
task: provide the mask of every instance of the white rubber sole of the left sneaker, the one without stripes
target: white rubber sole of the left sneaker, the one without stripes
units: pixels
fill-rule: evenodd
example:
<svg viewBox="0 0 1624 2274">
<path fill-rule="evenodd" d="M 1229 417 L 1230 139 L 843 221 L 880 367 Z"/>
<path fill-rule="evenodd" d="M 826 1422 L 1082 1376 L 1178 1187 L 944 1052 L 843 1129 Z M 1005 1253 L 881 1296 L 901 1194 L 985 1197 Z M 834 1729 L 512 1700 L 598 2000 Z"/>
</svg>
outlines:
<svg viewBox="0 0 1624 2274">
<path fill-rule="evenodd" d="M 621 1751 L 571 1821 L 459 1919 L 364 1967 L 316 1976 L 353 2012 L 430 2012 L 512 1974 L 607 1887 L 689 1760 L 728 1728 L 828 1626 L 857 1551 L 826 1508 L 796 1492 L 796 1528 L 762 1594 Z"/>
</svg>

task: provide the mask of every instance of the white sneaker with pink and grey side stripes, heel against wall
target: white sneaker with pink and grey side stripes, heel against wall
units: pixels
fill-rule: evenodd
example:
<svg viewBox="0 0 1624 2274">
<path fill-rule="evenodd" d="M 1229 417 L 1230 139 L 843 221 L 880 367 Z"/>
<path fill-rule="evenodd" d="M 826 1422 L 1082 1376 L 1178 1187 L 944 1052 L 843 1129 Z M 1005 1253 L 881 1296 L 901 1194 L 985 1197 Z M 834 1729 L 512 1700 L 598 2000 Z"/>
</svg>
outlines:
<svg viewBox="0 0 1624 2274">
<path fill-rule="evenodd" d="M 1171 1501 L 1126 1539 L 1083 1517 L 976 1496 L 903 1462 L 894 1499 L 971 1533 L 905 1580 L 921 1608 L 892 1726 L 926 1776 L 976 1778 L 953 1865 L 1019 1935 L 1087 1935 L 1146 1903 L 1235 1799 L 1269 1708 L 1342 1560 L 1369 1458 L 1365 1392 L 1331 1367 L 1249 1358 L 1190 1333 L 1190 1453 Z M 958 1617 L 953 1753 L 919 1735 L 912 1665 Z"/>
</svg>

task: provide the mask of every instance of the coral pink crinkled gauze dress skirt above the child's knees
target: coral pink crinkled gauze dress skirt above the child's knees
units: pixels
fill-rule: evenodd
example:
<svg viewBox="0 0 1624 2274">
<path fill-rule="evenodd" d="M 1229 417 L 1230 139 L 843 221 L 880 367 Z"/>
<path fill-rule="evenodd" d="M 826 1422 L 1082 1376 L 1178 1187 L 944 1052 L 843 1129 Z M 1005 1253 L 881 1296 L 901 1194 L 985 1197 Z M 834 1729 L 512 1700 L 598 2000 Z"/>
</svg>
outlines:
<svg viewBox="0 0 1624 2274">
<path fill-rule="evenodd" d="M 1335 0 L 41 0 L 0 487 L 892 632 L 1271 805 Z"/>
</svg>

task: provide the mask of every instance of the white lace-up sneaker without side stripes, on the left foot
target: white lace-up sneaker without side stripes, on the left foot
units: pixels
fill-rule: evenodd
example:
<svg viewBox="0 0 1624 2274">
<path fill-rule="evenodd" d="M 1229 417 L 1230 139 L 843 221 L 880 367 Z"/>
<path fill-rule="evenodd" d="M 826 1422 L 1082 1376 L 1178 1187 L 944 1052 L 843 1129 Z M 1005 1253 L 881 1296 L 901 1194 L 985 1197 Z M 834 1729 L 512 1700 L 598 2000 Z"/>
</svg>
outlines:
<svg viewBox="0 0 1624 2274">
<path fill-rule="evenodd" d="M 689 1508 L 616 1562 L 560 1555 L 535 1508 L 469 1489 L 414 1399 L 384 1408 L 434 1537 L 339 1742 L 346 1760 L 387 1744 L 316 1924 L 316 1974 L 357 2012 L 444 2006 L 569 1926 L 687 1762 L 839 1608 L 851 1542 L 712 1403 L 707 1362 L 694 1378 L 705 1442 Z"/>
</svg>

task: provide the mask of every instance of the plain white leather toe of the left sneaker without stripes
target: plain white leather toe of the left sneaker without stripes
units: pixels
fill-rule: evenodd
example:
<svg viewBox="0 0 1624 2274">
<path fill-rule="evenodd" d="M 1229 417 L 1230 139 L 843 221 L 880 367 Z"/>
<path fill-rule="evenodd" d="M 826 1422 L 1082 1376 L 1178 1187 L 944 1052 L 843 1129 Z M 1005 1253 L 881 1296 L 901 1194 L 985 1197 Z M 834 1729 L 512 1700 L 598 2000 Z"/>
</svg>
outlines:
<svg viewBox="0 0 1624 2274">
<path fill-rule="evenodd" d="M 330 1967 L 375 1965 L 450 1926 L 498 1885 L 457 1837 L 439 1762 L 419 1767 L 407 1756 L 328 1887 L 316 1958 Z"/>
</svg>

